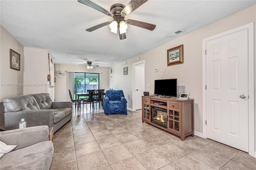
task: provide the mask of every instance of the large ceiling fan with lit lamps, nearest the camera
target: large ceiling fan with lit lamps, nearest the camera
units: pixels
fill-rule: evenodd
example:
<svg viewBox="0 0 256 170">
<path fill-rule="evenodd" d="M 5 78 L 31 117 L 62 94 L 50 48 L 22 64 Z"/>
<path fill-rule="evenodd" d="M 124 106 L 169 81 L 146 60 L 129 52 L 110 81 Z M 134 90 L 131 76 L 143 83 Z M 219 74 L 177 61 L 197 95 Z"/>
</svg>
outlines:
<svg viewBox="0 0 256 170">
<path fill-rule="evenodd" d="M 144 4 L 147 1 L 148 0 L 131 0 L 126 6 L 122 4 L 114 4 L 110 7 L 111 12 L 109 12 L 108 10 L 105 10 L 104 8 L 98 6 L 97 4 L 94 4 L 90 0 L 78 0 L 78 2 L 81 2 L 82 4 L 90 6 L 91 8 L 94 8 L 95 10 L 98 10 L 103 14 L 106 14 L 107 16 L 114 18 L 112 22 L 108 21 L 102 24 L 98 24 L 96 26 L 86 29 L 86 31 L 92 32 L 103 26 L 110 25 L 111 32 L 119 34 L 120 40 L 126 39 L 125 33 L 128 27 L 127 24 L 144 28 L 150 31 L 153 31 L 156 28 L 156 25 L 154 24 L 149 24 L 146 22 L 130 20 L 130 19 L 124 20 L 124 18 L 128 14 L 136 10 L 138 7 L 140 7 L 142 4 Z"/>
</svg>

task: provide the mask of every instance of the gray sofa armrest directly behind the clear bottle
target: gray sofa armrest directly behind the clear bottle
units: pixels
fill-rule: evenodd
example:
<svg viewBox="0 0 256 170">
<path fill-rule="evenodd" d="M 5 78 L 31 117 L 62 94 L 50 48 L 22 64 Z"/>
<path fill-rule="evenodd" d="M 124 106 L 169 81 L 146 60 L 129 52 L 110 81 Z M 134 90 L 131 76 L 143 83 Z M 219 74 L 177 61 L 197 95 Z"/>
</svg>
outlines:
<svg viewBox="0 0 256 170">
<path fill-rule="evenodd" d="M 53 110 L 26 110 L 18 112 L 1 113 L 1 129 L 12 130 L 19 128 L 18 124 L 21 119 L 25 119 L 27 127 L 47 125 L 53 127 Z"/>
</svg>

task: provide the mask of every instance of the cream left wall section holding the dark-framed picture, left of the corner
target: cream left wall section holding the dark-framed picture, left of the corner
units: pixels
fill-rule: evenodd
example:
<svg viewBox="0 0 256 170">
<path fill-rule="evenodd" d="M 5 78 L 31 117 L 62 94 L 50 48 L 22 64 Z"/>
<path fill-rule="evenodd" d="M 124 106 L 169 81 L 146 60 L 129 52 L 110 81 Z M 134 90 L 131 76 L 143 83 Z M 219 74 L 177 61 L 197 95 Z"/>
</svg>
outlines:
<svg viewBox="0 0 256 170">
<path fill-rule="evenodd" d="M 20 54 L 20 71 L 10 69 L 10 49 Z M 0 101 L 8 97 L 23 95 L 23 87 L 5 86 L 6 83 L 22 83 L 24 72 L 24 48 L 10 35 L 2 26 L 0 26 Z"/>
</svg>

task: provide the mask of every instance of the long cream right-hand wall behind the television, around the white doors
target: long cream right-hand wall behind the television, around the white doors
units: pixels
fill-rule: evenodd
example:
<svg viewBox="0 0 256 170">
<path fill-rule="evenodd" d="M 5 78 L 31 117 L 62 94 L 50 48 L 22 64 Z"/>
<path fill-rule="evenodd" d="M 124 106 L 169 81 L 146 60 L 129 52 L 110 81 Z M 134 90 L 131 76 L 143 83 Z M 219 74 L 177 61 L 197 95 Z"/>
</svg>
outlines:
<svg viewBox="0 0 256 170">
<path fill-rule="evenodd" d="M 124 65 L 124 62 L 116 64 L 113 66 L 113 74 L 110 77 L 110 88 L 122 89 L 128 101 L 127 107 L 132 108 L 131 69 L 132 64 L 138 62 L 137 57 L 139 57 L 139 61 L 146 61 L 145 91 L 154 92 L 155 79 L 177 78 L 178 85 L 184 87 L 183 92 L 190 93 L 189 97 L 194 99 L 194 130 L 202 132 L 202 40 L 251 22 L 256 22 L 256 5 L 134 56 L 127 60 L 127 65 Z M 254 25 L 254 56 L 256 55 L 255 40 L 256 27 Z M 167 49 L 181 44 L 184 45 L 184 63 L 167 67 Z M 123 75 L 123 67 L 128 67 L 128 75 Z M 158 72 L 154 72 L 154 69 L 158 69 Z M 150 87 L 147 87 L 148 83 Z"/>
</svg>

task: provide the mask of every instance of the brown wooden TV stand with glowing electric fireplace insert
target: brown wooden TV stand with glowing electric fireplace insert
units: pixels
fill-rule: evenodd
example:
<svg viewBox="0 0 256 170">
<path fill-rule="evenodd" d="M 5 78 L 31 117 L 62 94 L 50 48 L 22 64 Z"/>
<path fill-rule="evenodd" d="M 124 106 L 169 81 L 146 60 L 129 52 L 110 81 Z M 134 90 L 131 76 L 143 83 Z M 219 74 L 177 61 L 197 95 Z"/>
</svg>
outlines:
<svg viewBox="0 0 256 170">
<path fill-rule="evenodd" d="M 144 121 L 185 140 L 186 136 L 194 136 L 194 100 L 142 96 Z"/>
</svg>

